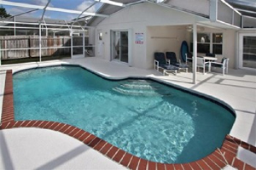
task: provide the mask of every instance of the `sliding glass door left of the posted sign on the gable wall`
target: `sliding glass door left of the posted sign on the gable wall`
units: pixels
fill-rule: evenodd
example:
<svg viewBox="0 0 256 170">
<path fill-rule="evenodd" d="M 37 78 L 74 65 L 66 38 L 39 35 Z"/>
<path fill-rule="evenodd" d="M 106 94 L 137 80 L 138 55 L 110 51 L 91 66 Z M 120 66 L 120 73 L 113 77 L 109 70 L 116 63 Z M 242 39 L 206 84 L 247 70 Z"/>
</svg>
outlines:
<svg viewBox="0 0 256 170">
<path fill-rule="evenodd" d="M 112 31 L 112 59 L 129 62 L 129 32 Z"/>
</svg>

